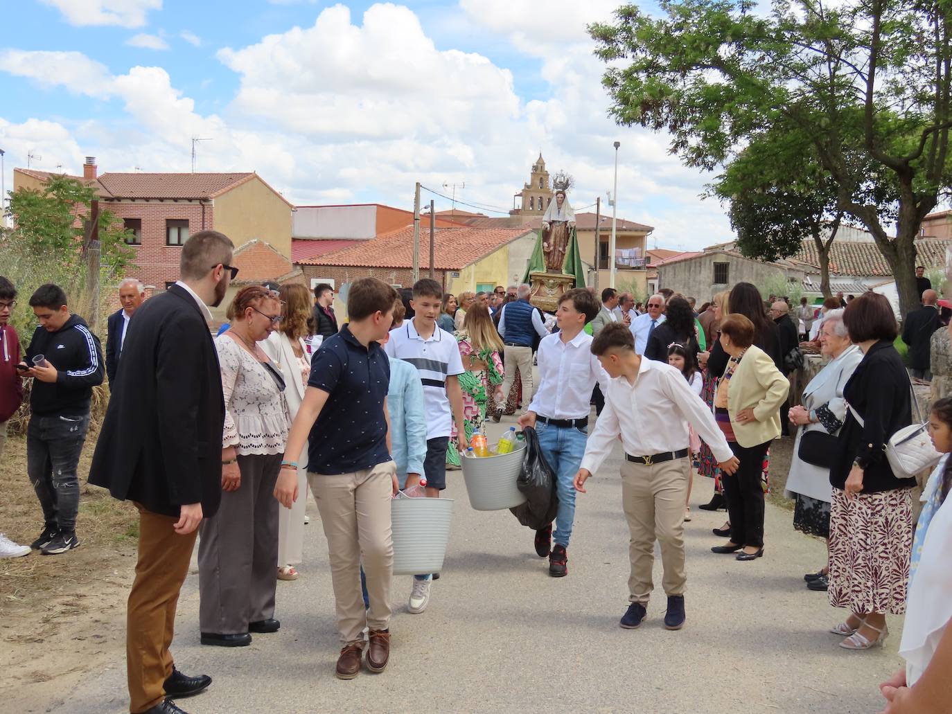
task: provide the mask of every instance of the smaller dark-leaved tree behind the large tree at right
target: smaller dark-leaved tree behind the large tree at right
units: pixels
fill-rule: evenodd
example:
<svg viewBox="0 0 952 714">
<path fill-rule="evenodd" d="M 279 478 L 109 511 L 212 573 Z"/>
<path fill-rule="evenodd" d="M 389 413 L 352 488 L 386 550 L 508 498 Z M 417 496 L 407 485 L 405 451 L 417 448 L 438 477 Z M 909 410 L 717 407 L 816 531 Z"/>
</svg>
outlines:
<svg viewBox="0 0 952 714">
<path fill-rule="evenodd" d="M 830 297 L 829 250 L 843 220 L 837 186 L 796 128 L 758 136 L 710 187 L 729 201 L 737 246 L 748 258 L 775 261 L 798 253 L 811 239 L 820 259 L 820 289 Z"/>
</svg>

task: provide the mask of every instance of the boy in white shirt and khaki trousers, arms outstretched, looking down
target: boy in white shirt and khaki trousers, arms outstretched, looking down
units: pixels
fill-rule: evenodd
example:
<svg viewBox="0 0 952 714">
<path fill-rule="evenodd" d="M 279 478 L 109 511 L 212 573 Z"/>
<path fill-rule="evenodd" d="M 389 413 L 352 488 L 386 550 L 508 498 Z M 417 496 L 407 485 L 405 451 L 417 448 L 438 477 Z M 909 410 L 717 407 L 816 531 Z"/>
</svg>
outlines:
<svg viewBox="0 0 952 714">
<path fill-rule="evenodd" d="M 664 626 L 684 626 L 684 501 L 690 465 L 690 424 L 710 446 L 718 466 L 733 473 L 739 464 L 724 433 L 682 373 L 635 352 L 631 331 L 619 323 L 605 326 L 592 342 L 592 353 L 611 377 L 605 409 L 585 446 L 575 487 L 585 493 L 585 481 L 605 461 L 619 436 L 625 446 L 622 502 L 628 522 L 629 605 L 620 625 L 634 629 L 645 619 L 654 585 L 654 542 L 661 545 L 662 583 L 667 595 Z"/>
</svg>

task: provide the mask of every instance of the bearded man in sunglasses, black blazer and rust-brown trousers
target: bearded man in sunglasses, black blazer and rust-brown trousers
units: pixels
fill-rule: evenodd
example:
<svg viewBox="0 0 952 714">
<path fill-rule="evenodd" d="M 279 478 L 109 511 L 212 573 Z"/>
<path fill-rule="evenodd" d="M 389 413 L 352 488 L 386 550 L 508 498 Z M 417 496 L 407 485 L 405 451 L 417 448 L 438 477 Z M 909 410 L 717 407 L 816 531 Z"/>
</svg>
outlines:
<svg viewBox="0 0 952 714">
<path fill-rule="evenodd" d="M 129 592 L 126 658 L 129 711 L 183 714 L 172 696 L 211 679 L 186 677 L 169 653 L 179 590 L 196 528 L 221 501 L 225 402 L 208 305 L 237 274 L 225 235 L 202 230 L 182 248 L 181 280 L 151 298 L 129 323 L 116 389 L 92 457 L 89 483 L 139 509 L 139 555 Z"/>
</svg>

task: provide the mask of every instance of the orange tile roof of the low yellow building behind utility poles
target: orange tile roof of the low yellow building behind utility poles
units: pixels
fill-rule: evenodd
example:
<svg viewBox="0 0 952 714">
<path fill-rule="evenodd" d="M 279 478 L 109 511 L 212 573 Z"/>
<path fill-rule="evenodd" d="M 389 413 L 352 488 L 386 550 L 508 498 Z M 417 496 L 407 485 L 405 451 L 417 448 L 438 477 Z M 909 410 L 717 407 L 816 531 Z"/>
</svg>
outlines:
<svg viewBox="0 0 952 714">
<path fill-rule="evenodd" d="M 526 228 L 437 228 L 434 233 L 435 268 L 459 270 L 475 263 L 506 243 L 532 233 Z M 361 268 L 412 268 L 413 228 L 378 235 L 359 245 L 334 250 L 298 263 L 306 266 Z M 429 234 L 420 231 L 420 267 L 429 268 Z"/>
</svg>

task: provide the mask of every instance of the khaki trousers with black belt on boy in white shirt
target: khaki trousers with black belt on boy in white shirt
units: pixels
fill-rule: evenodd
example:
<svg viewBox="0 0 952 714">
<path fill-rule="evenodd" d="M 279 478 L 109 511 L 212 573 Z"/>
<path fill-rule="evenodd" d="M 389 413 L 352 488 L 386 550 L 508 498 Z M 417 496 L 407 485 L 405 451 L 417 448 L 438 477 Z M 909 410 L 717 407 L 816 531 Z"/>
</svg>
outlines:
<svg viewBox="0 0 952 714">
<path fill-rule="evenodd" d="M 690 460 L 672 459 L 645 466 L 625 460 L 622 463 L 622 503 L 631 539 L 628 560 L 628 598 L 646 605 L 654 584 L 654 542 L 661 545 L 664 565 L 662 586 L 667 595 L 684 595 L 684 503 Z"/>
</svg>

